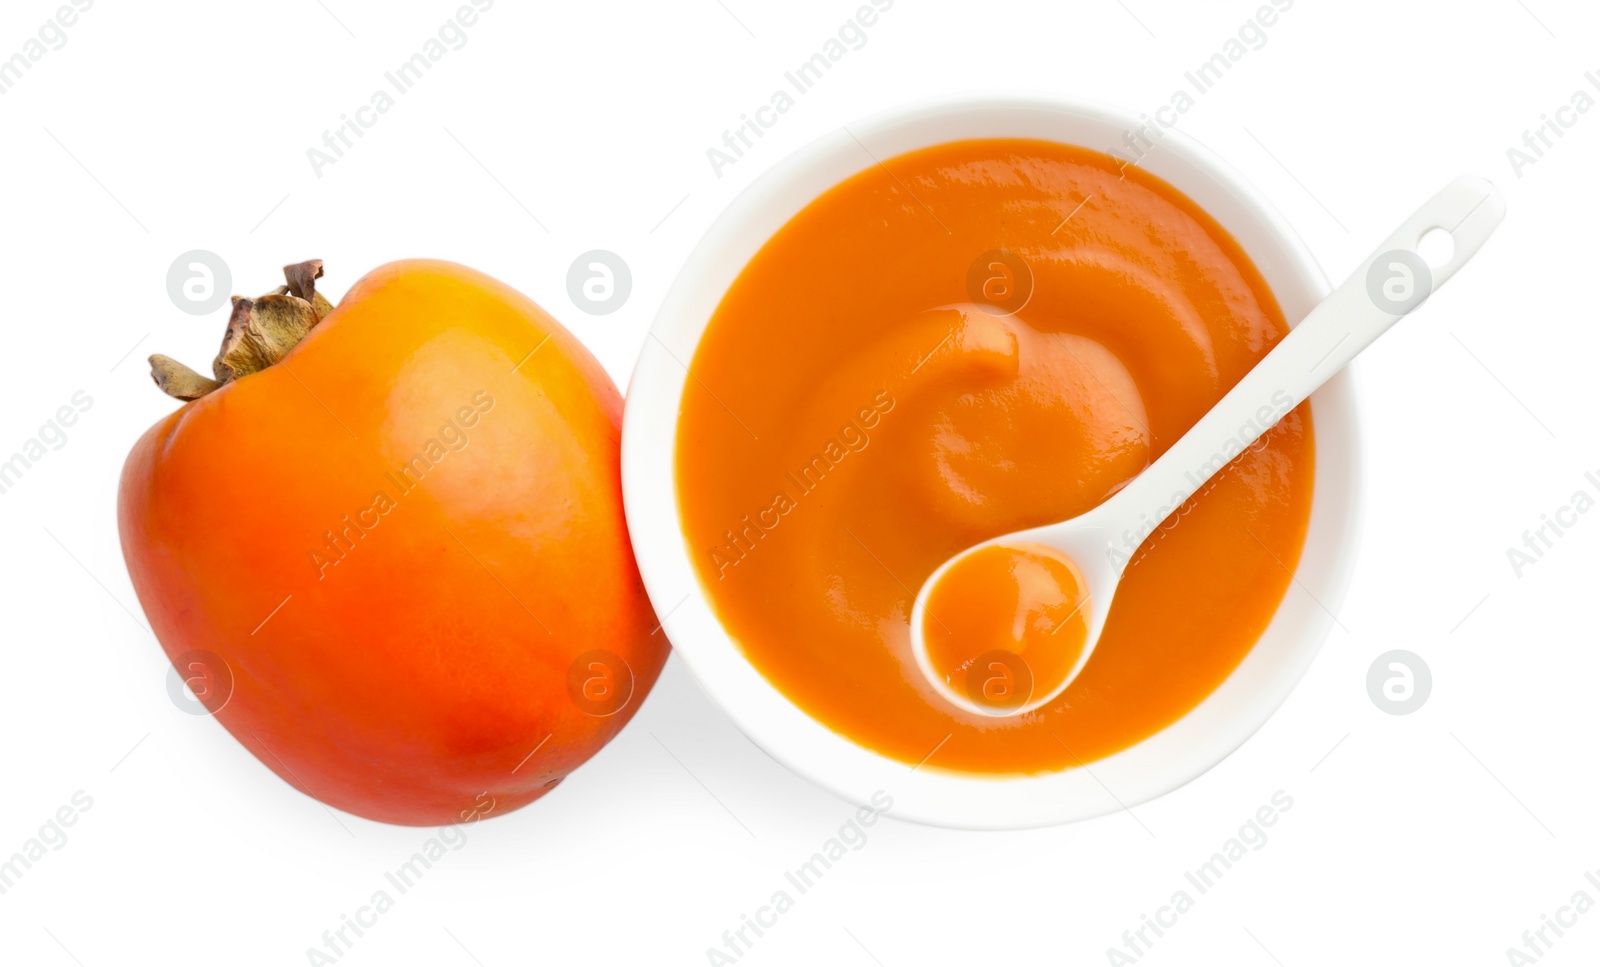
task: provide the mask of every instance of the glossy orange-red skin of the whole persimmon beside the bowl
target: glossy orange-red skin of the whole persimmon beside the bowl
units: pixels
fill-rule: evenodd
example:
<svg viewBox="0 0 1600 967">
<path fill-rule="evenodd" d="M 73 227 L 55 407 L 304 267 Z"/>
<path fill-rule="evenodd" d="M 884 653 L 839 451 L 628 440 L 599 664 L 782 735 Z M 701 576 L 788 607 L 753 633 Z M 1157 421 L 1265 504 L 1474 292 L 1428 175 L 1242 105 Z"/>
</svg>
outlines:
<svg viewBox="0 0 1600 967">
<path fill-rule="evenodd" d="M 206 708 L 291 786 L 386 823 L 499 815 L 610 741 L 666 661 L 621 419 L 533 301 L 394 263 L 282 362 L 144 434 L 123 556 L 168 656 L 227 664 Z M 626 668 L 581 703 L 570 672 L 597 650 Z"/>
</svg>

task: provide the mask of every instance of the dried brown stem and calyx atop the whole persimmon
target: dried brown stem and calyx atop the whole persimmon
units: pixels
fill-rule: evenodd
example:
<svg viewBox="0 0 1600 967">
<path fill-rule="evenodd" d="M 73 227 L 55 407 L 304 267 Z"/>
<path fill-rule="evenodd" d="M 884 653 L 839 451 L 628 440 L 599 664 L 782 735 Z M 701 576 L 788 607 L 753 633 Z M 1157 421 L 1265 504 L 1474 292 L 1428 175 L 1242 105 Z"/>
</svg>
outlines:
<svg viewBox="0 0 1600 967">
<path fill-rule="evenodd" d="M 285 266 L 283 279 L 288 285 L 259 299 L 234 296 L 234 314 L 222 333 L 222 349 L 211 362 L 214 379 L 165 355 L 150 357 L 150 378 L 170 397 L 197 400 L 277 363 L 333 312 L 333 303 L 317 291 L 320 277 L 322 259 L 310 259 Z"/>
</svg>

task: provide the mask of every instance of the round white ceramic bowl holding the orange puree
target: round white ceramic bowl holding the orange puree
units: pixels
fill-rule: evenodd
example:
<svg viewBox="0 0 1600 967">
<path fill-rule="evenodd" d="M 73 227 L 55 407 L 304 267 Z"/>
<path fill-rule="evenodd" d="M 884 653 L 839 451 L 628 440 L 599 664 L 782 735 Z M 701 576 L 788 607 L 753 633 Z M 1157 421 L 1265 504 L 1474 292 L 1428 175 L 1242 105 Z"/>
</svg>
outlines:
<svg viewBox="0 0 1600 967">
<path fill-rule="evenodd" d="M 706 323 L 750 256 L 813 199 L 907 150 L 968 138 L 1037 138 L 1110 150 L 1139 120 L 1106 107 L 1035 96 L 918 104 L 850 125 L 795 152 L 746 189 L 712 224 L 656 315 L 627 392 L 622 495 L 638 568 L 677 653 L 746 735 L 811 781 L 866 804 L 888 792 L 890 815 L 971 829 L 1046 826 L 1168 792 L 1238 748 L 1288 696 L 1344 599 L 1357 544 L 1358 447 L 1347 375 L 1312 397 L 1317 479 L 1306 549 L 1283 604 L 1232 676 L 1187 716 L 1147 740 L 1059 773 L 984 778 L 886 759 L 829 730 L 778 692 L 718 623 L 678 524 L 674 459 L 680 400 Z M 870 154 L 869 154 L 870 152 Z M 1328 282 L 1294 231 L 1208 150 L 1166 131 L 1139 165 L 1194 199 L 1243 247 L 1290 320 Z"/>
</svg>

